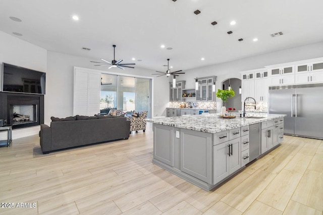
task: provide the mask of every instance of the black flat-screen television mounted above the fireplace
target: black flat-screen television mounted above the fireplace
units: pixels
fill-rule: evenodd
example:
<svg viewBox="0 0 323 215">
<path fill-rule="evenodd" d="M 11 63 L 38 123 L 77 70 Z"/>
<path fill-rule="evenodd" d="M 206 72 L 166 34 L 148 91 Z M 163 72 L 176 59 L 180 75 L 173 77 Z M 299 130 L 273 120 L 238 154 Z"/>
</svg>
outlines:
<svg viewBox="0 0 323 215">
<path fill-rule="evenodd" d="M 4 92 L 45 94 L 46 73 L 3 63 Z"/>
</svg>

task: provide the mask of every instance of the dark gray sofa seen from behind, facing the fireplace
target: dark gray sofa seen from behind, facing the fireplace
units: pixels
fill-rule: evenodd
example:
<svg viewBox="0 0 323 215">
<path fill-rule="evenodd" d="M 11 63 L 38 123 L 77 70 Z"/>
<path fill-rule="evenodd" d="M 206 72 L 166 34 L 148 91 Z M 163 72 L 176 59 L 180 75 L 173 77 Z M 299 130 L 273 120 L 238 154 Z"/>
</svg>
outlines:
<svg viewBox="0 0 323 215">
<path fill-rule="evenodd" d="M 117 139 L 128 139 L 130 121 L 127 117 L 74 116 L 51 117 L 50 127 L 40 125 L 40 147 L 43 154 L 71 147 Z"/>
</svg>

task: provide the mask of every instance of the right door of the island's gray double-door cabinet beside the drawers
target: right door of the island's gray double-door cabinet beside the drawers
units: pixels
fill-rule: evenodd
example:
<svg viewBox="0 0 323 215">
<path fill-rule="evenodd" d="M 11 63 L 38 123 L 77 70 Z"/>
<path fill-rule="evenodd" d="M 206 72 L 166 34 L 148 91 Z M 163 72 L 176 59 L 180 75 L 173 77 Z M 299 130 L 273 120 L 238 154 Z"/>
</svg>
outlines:
<svg viewBox="0 0 323 215">
<path fill-rule="evenodd" d="M 241 137 L 229 140 L 231 154 L 229 156 L 229 175 L 241 168 Z"/>
</svg>

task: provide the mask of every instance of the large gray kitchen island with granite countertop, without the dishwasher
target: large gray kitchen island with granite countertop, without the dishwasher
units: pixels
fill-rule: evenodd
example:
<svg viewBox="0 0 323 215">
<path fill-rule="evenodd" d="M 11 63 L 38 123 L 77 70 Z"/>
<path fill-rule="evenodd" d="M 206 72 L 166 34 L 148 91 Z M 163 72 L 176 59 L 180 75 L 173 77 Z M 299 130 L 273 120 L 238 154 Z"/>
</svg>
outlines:
<svg viewBox="0 0 323 215">
<path fill-rule="evenodd" d="M 220 118 L 216 114 L 147 119 L 153 123 L 152 162 L 210 190 L 251 162 L 249 126 L 259 123 L 259 156 L 278 147 L 284 114 Z"/>
</svg>

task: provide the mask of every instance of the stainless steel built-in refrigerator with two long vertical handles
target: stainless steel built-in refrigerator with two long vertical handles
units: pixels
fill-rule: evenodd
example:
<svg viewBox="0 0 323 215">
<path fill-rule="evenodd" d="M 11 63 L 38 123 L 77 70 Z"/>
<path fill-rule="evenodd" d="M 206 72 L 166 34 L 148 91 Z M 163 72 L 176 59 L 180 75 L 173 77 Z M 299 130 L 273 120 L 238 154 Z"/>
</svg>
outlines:
<svg viewBox="0 0 323 215">
<path fill-rule="evenodd" d="M 270 87 L 268 107 L 287 114 L 285 134 L 323 139 L 323 84 Z"/>
</svg>

